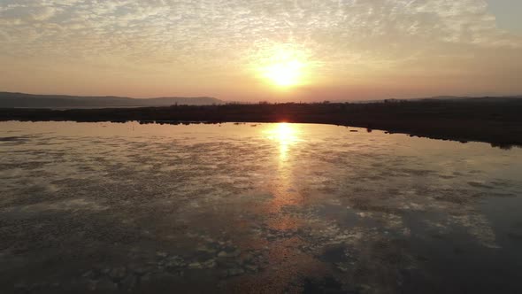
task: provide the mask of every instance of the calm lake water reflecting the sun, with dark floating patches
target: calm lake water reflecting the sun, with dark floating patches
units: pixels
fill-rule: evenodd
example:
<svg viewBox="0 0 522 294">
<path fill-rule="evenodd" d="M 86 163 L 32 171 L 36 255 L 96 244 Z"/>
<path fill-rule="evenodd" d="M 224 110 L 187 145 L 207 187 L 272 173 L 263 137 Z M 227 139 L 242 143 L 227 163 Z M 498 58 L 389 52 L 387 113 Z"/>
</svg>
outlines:
<svg viewBox="0 0 522 294">
<path fill-rule="evenodd" d="M 520 292 L 521 149 L 1 122 L 0 158 L 5 292 Z"/>
</svg>

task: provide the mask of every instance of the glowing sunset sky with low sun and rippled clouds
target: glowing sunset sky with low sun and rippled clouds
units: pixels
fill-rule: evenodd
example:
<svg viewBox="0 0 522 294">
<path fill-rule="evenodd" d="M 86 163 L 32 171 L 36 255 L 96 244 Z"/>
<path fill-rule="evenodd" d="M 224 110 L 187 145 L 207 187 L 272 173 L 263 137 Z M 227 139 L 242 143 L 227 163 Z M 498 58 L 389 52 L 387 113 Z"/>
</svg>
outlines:
<svg viewBox="0 0 522 294">
<path fill-rule="evenodd" d="M 520 0 L 0 0 L 0 90 L 323 101 L 522 94 Z"/>
</svg>

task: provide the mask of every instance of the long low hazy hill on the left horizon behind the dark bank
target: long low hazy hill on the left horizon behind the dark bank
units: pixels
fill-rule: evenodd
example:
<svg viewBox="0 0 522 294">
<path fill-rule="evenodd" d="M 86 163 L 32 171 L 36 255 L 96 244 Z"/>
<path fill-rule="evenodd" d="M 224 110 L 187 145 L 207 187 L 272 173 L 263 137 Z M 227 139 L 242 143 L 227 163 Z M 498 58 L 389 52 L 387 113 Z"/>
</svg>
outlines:
<svg viewBox="0 0 522 294">
<path fill-rule="evenodd" d="M 81 97 L 0 92 L 0 107 L 4 108 L 107 108 L 169 106 L 173 104 L 211 105 L 224 104 L 224 102 L 213 97 L 157 97 L 139 99 L 113 96 Z"/>
</svg>

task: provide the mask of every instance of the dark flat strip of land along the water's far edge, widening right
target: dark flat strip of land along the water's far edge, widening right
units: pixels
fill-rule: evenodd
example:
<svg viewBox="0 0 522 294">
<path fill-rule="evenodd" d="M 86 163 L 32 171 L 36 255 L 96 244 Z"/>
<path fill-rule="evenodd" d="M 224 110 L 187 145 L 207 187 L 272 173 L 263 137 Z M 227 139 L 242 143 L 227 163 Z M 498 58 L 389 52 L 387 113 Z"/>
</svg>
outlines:
<svg viewBox="0 0 522 294">
<path fill-rule="evenodd" d="M 0 109 L 0 121 L 142 123 L 296 122 L 380 129 L 501 148 L 522 145 L 522 99 L 423 100 L 372 104 L 225 104 L 105 109 Z"/>
</svg>

